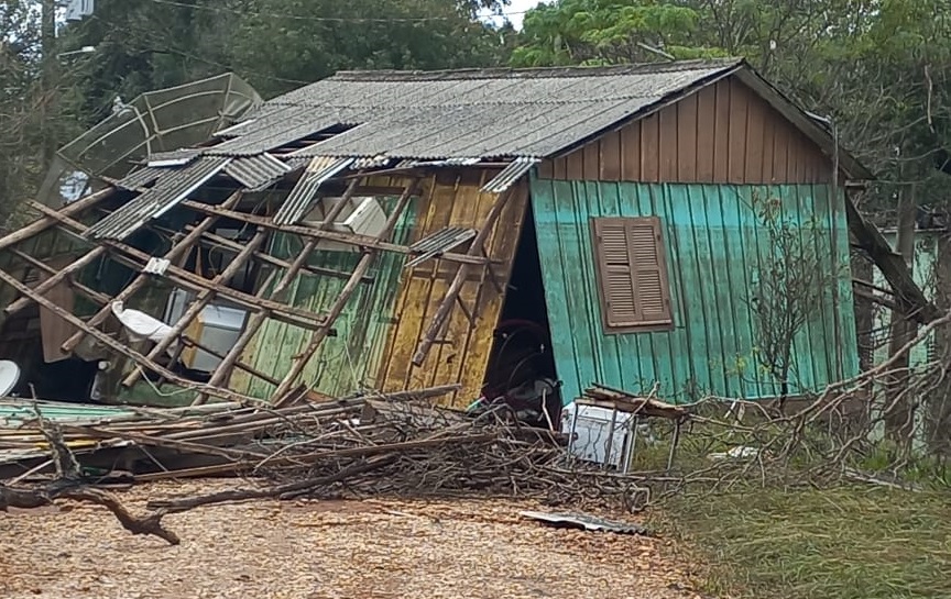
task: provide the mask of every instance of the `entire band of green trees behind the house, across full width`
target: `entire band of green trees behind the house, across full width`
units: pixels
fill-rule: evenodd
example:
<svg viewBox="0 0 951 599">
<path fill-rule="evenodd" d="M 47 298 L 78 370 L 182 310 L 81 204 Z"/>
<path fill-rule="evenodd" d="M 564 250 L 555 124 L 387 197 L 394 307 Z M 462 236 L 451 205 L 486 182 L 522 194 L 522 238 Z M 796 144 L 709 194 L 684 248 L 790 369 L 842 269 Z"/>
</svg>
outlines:
<svg viewBox="0 0 951 599">
<path fill-rule="evenodd" d="M 948 0 L 555 0 L 524 30 L 474 15 L 509 0 L 99 0 L 41 52 L 40 0 L 0 4 L 0 206 L 42 147 L 114 98 L 232 70 L 272 97 L 339 69 L 616 64 L 745 56 L 896 189 L 943 201 L 951 149 Z M 63 55 L 83 46 L 92 54 Z M 55 85 L 44 66 L 56 63 Z M 936 185 L 937 181 L 937 185 Z M 929 187 L 930 186 L 930 187 Z M 0 214 L 2 217 L 2 214 Z"/>
</svg>

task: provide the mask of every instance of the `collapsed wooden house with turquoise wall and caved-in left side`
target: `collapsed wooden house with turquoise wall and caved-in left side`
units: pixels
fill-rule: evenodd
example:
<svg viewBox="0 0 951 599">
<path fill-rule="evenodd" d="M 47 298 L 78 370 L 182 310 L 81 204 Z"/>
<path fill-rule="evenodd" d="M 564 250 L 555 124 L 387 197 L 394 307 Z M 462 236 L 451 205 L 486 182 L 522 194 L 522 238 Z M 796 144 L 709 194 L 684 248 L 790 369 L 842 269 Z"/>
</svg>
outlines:
<svg viewBox="0 0 951 599">
<path fill-rule="evenodd" d="M 523 384 L 568 402 L 592 381 L 770 397 L 730 368 L 757 343 L 755 197 L 818 221 L 833 260 L 851 224 L 920 303 L 843 192 L 868 178 L 739 59 L 341 73 L 34 202 L 0 240 L 0 358 L 70 399 L 458 382 L 460 406 Z M 795 347 L 813 389 L 859 368 L 849 275 L 823 292 Z M 130 341 L 127 309 L 161 334 Z"/>
</svg>

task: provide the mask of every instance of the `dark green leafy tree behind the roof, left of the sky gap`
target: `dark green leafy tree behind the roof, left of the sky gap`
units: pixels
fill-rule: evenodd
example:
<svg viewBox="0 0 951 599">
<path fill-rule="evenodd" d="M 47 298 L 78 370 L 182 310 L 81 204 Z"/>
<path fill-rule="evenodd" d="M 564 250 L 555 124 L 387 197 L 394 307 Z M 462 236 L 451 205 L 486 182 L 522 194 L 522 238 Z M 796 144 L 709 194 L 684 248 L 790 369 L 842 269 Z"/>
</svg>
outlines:
<svg viewBox="0 0 951 599">
<path fill-rule="evenodd" d="M 232 63 L 264 96 L 341 69 L 481 67 L 504 59 L 506 30 L 493 31 L 472 19 L 474 10 L 501 9 L 500 2 L 256 0 L 254 4 L 256 11 L 239 21 Z M 280 14 L 287 16 L 274 16 Z"/>
</svg>

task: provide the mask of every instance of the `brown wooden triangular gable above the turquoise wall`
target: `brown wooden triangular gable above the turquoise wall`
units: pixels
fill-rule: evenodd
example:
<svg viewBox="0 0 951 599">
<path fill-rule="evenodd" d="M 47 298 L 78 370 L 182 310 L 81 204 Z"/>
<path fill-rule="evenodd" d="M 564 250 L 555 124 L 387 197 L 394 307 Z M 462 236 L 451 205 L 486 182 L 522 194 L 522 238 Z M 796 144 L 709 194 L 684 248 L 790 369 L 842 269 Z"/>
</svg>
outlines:
<svg viewBox="0 0 951 599">
<path fill-rule="evenodd" d="M 546 179 L 822 184 L 832 160 L 778 111 L 726 78 L 654 114 L 545 160 Z"/>
</svg>

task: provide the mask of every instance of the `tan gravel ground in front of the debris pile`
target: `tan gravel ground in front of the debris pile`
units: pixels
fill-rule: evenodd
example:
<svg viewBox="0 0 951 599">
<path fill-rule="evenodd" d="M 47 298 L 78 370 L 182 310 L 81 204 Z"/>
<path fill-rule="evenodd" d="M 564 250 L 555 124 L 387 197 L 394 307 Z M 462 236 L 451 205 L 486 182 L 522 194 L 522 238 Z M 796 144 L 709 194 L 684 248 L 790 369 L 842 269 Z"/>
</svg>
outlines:
<svg viewBox="0 0 951 599">
<path fill-rule="evenodd" d="M 208 492 L 233 482 L 122 493 Z M 684 599 L 685 568 L 663 541 L 551 529 L 500 501 L 256 501 L 166 517 L 171 547 L 133 536 L 105 509 L 0 513 L 7 598 Z"/>
</svg>

